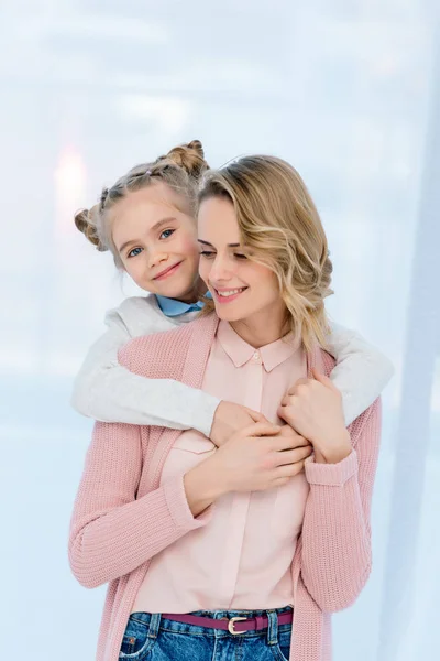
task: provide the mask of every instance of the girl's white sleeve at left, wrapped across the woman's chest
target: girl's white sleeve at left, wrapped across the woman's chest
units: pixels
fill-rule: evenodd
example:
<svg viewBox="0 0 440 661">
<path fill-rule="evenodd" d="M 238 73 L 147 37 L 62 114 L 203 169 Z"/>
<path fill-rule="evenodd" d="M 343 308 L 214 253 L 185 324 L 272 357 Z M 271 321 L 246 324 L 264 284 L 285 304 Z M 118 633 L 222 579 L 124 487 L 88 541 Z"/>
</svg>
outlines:
<svg viewBox="0 0 440 661">
<path fill-rule="evenodd" d="M 196 429 L 209 437 L 220 400 L 172 379 L 147 379 L 118 362 L 133 335 L 118 313 L 107 313 L 108 330 L 89 349 L 75 379 L 72 405 L 101 422 Z M 147 335 L 147 333 L 145 333 Z"/>
</svg>

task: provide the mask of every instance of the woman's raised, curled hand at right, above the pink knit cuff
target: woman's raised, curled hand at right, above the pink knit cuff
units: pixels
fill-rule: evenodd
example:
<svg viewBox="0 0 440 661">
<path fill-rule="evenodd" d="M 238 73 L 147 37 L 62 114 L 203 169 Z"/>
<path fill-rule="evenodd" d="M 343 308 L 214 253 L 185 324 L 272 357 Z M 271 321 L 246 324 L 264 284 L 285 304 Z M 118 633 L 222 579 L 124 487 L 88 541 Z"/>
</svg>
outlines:
<svg viewBox="0 0 440 661">
<path fill-rule="evenodd" d="M 342 395 L 328 377 L 312 373 L 314 379 L 299 379 L 288 389 L 277 414 L 312 443 L 317 462 L 336 464 L 352 451 Z"/>
</svg>

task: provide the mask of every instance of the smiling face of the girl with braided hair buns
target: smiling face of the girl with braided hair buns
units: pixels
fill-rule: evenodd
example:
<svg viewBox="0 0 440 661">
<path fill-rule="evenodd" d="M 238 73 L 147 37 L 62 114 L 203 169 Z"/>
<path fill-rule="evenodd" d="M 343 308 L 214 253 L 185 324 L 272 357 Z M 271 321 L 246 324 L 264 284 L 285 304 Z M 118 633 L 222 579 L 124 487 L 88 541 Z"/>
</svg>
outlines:
<svg viewBox="0 0 440 661">
<path fill-rule="evenodd" d="M 112 238 L 127 273 L 153 294 L 194 302 L 198 274 L 196 223 L 163 182 L 130 193 L 111 210 Z"/>
</svg>

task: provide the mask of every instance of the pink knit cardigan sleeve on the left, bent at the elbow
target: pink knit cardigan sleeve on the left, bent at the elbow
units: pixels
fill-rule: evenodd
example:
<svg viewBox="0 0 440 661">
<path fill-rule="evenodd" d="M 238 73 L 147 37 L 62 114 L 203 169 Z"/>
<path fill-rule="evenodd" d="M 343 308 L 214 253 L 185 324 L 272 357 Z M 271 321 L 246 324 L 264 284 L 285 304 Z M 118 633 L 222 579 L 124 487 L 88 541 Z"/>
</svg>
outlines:
<svg viewBox="0 0 440 661">
<path fill-rule="evenodd" d="M 68 544 L 72 571 L 85 587 L 132 572 L 211 517 L 208 508 L 194 518 L 184 476 L 136 500 L 141 469 L 140 427 L 96 423 Z"/>
</svg>

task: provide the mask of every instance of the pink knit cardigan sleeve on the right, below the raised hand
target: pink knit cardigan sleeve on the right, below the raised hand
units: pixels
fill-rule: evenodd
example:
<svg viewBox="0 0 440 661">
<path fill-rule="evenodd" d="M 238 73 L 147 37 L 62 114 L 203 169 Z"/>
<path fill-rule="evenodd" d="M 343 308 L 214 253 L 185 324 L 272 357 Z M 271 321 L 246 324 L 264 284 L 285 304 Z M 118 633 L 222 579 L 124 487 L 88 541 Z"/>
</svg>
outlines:
<svg viewBox="0 0 440 661">
<path fill-rule="evenodd" d="M 371 501 L 381 438 L 377 399 L 351 430 L 353 449 L 338 464 L 306 459 L 310 485 L 302 522 L 301 575 L 318 606 L 351 606 L 372 567 Z"/>
</svg>

